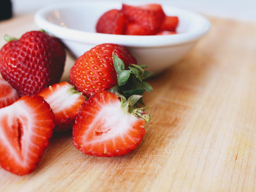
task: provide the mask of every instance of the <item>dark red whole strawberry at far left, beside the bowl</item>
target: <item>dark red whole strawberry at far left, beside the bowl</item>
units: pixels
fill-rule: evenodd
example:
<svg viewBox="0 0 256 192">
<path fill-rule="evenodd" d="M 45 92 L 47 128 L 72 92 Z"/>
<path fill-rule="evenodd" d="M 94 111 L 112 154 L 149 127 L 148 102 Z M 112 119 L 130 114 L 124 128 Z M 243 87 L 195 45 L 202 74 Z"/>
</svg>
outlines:
<svg viewBox="0 0 256 192">
<path fill-rule="evenodd" d="M 61 42 L 41 31 L 26 32 L 0 50 L 0 73 L 17 92 L 34 95 L 58 82 L 66 52 Z"/>
</svg>

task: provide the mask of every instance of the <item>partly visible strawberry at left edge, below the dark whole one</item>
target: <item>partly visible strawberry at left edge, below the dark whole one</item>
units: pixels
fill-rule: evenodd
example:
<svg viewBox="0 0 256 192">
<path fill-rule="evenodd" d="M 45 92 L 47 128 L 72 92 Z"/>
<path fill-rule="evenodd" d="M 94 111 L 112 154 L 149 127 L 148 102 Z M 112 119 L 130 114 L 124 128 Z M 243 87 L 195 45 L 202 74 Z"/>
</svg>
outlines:
<svg viewBox="0 0 256 192">
<path fill-rule="evenodd" d="M 0 108 L 11 105 L 19 98 L 17 91 L 6 80 L 0 78 Z"/>
</svg>

